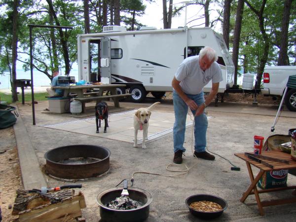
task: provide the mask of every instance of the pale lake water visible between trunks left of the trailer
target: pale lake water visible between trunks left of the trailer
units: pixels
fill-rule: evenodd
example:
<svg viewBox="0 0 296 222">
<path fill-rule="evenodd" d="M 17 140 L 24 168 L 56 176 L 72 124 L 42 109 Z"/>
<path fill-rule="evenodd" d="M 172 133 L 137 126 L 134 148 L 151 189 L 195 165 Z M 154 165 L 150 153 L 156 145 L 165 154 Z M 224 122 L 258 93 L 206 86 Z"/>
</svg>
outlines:
<svg viewBox="0 0 296 222">
<path fill-rule="evenodd" d="M 63 72 L 61 72 L 63 74 Z M 71 70 L 70 76 L 75 76 L 75 80 L 78 81 L 78 70 Z M 16 71 L 16 79 L 31 79 L 31 71 Z M 34 70 L 33 71 L 34 86 L 49 86 L 51 81 L 43 73 Z M 0 89 L 11 89 L 9 73 L 0 75 Z"/>
</svg>

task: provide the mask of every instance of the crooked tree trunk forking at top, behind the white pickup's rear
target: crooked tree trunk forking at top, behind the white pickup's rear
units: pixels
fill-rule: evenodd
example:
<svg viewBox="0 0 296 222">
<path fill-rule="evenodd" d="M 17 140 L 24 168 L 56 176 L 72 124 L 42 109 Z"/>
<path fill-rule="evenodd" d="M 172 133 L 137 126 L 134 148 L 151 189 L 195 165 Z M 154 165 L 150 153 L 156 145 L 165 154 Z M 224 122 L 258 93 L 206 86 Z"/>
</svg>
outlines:
<svg viewBox="0 0 296 222">
<path fill-rule="evenodd" d="M 267 62 L 267 58 L 268 58 L 268 52 L 269 52 L 269 37 L 267 36 L 266 34 L 266 31 L 265 31 L 265 26 L 264 26 L 264 17 L 263 17 L 263 11 L 264 11 L 264 8 L 265 8 L 265 4 L 266 4 L 266 0 L 262 0 L 262 3 L 261 3 L 261 7 L 260 7 L 260 10 L 256 10 L 248 0 L 245 0 L 246 4 L 249 6 L 249 8 L 258 16 L 258 20 L 259 20 L 259 29 L 260 29 L 260 33 L 262 35 L 262 38 L 263 38 L 263 54 L 261 56 L 261 58 L 259 59 L 259 66 L 258 66 L 258 74 L 257 74 L 257 87 L 259 88 L 260 87 L 260 84 L 261 84 L 261 79 L 262 79 L 262 74 L 263 74 L 263 71 L 264 71 L 264 67 L 265 67 L 265 64 Z"/>
</svg>

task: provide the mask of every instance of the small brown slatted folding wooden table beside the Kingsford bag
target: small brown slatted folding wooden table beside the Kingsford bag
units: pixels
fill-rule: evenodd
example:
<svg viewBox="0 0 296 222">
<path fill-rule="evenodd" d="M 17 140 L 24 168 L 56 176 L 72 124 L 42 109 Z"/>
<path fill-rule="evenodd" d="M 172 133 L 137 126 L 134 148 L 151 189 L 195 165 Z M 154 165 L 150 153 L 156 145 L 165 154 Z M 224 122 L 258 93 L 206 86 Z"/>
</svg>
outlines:
<svg viewBox="0 0 296 222">
<path fill-rule="evenodd" d="M 259 197 L 259 193 L 275 192 L 275 191 L 286 190 L 286 189 L 295 189 L 296 186 L 284 186 L 284 187 L 261 189 L 261 190 L 257 189 L 257 183 L 265 172 L 270 172 L 272 170 L 286 170 L 286 169 L 296 168 L 296 161 L 292 159 L 291 154 L 283 152 L 281 150 L 262 152 L 261 154 L 262 156 L 264 157 L 266 156 L 267 158 L 268 157 L 276 158 L 276 159 L 282 160 L 282 162 L 260 158 L 260 160 L 262 161 L 259 160 L 259 162 L 261 163 L 257 162 L 252 157 L 250 158 L 250 156 L 246 155 L 245 153 L 234 153 L 234 155 L 246 161 L 250 180 L 251 180 L 251 185 L 249 185 L 248 189 L 246 190 L 246 192 L 243 193 L 243 196 L 240 199 L 241 202 L 244 202 L 249 195 L 255 194 L 257 205 L 258 205 L 261 216 L 264 215 L 263 207 L 296 202 L 296 197 L 292 197 L 288 199 L 269 200 L 269 201 L 261 201 Z M 254 177 L 251 165 L 259 168 L 260 170 L 256 177 Z"/>
</svg>

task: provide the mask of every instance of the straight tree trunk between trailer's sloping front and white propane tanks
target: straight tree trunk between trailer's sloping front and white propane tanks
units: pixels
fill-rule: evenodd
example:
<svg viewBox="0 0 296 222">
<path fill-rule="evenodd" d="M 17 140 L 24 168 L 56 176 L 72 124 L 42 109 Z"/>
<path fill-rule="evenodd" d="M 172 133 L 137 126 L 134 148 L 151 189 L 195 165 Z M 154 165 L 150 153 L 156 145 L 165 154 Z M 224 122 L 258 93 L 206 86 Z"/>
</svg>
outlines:
<svg viewBox="0 0 296 222">
<path fill-rule="evenodd" d="M 236 9 L 236 19 L 233 35 L 233 48 L 232 48 L 232 61 L 234 63 L 234 84 L 237 84 L 237 63 L 238 63 L 238 52 L 239 52 L 239 41 L 242 28 L 242 18 L 244 11 L 244 0 L 238 0 Z M 224 36 L 224 33 L 223 33 Z"/>
</svg>

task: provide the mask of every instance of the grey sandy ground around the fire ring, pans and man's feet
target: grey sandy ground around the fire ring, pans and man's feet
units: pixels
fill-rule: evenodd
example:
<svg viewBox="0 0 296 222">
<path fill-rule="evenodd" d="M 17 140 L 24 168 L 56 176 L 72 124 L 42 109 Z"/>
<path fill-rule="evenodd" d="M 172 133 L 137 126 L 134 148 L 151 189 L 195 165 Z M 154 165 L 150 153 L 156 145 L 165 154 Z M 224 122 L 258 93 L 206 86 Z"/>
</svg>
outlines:
<svg viewBox="0 0 296 222">
<path fill-rule="evenodd" d="M 137 109 L 148 107 L 155 100 L 147 100 L 143 104 L 120 103 L 121 107 Z M 154 111 L 173 112 L 172 101 L 161 100 Z M 220 104 L 219 104 L 220 105 Z M 65 115 L 43 114 L 41 111 L 47 104 L 38 103 L 36 122 L 38 125 L 49 125 L 66 121 L 74 121 L 73 117 Z M 275 132 L 270 132 L 276 109 L 270 107 L 252 107 L 225 103 L 220 107 L 212 104 L 207 108 L 208 115 L 214 118 L 209 121 L 207 132 L 208 149 L 231 161 L 241 168 L 241 171 L 231 171 L 228 161 L 216 155 L 215 161 L 196 159 L 192 154 L 192 129 L 185 132 L 184 164 L 189 168 L 188 173 L 178 174 L 166 169 L 173 159 L 172 135 L 165 136 L 149 144 L 147 149 L 135 149 L 131 143 L 110 140 L 107 138 L 88 136 L 51 128 L 32 125 L 32 107 L 28 104 L 18 105 L 19 112 L 27 131 L 37 160 L 44 164 L 44 153 L 60 146 L 85 144 L 100 145 L 111 150 L 110 169 L 106 175 L 88 180 L 80 180 L 87 208 L 82 210 L 86 221 L 100 221 L 96 196 L 105 189 L 116 186 L 122 179 L 129 180 L 133 175 L 135 187 L 148 190 L 153 197 L 147 222 L 192 222 L 201 221 L 192 216 L 185 206 L 185 199 L 193 194 L 213 194 L 222 197 L 228 203 L 228 208 L 222 216 L 213 221 L 224 222 L 277 222 L 294 221 L 296 217 L 295 204 L 264 207 L 265 216 L 259 216 L 255 196 L 250 196 L 244 203 L 240 202 L 243 192 L 250 185 L 247 166 L 244 161 L 234 156 L 236 152 L 252 152 L 254 135 L 265 139 L 274 134 L 288 134 L 295 127 L 296 113 L 289 112 L 281 116 L 276 124 Z M 244 113 L 248 112 L 248 113 Z M 270 113 L 266 115 L 264 113 Z M 283 112 L 282 112 L 283 113 Z M 184 169 L 184 166 L 175 170 Z M 141 173 L 142 172 L 142 173 Z M 154 174 L 144 174 L 149 172 Z M 257 168 L 253 169 L 258 172 Z M 166 175 L 166 176 L 164 176 Z M 63 181 L 44 174 L 49 187 L 75 183 Z M 296 177 L 288 175 L 288 185 L 296 185 Z M 271 200 L 291 197 L 292 190 L 260 194 L 261 200 Z"/>
</svg>

